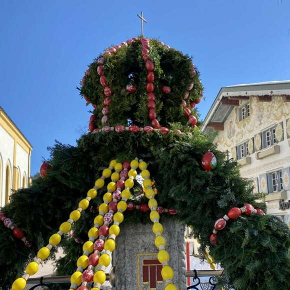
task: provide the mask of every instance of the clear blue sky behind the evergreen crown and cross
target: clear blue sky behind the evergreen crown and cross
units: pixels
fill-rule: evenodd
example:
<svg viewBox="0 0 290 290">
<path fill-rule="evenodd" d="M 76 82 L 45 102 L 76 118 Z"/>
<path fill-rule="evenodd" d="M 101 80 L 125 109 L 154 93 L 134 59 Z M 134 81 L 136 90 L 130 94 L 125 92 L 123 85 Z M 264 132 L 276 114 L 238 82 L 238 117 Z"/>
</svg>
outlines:
<svg viewBox="0 0 290 290">
<path fill-rule="evenodd" d="M 140 33 L 193 55 L 204 117 L 221 86 L 290 79 L 289 0 L 0 1 L 0 105 L 33 145 L 31 173 L 89 113 L 75 86 L 103 48 Z"/>
</svg>

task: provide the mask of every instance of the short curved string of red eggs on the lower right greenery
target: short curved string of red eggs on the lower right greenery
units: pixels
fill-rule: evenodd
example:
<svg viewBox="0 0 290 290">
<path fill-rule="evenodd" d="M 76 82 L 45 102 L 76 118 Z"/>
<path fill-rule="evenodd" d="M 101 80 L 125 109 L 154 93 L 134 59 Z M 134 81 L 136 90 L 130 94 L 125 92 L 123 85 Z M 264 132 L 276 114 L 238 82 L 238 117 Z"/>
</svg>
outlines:
<svg viewBox="0 0 290 290">
<path fill-rule="evenodd" d="M 217 240 L 218 231 L 225 228 L 226 223 L 229 219 L 236 219 L 242 213 L 245 213 L 246 215 L 253 215 L 253 214 L 264 215 L 264 212 L 260 208 L 254 208 L 249 203 L 244 204 L 242 207 L 232 207 L 229 209 L 227 214 L 225 214 L 221 218 L 218 218 L 215 221 L 212 233 L 208 237 L 209 242 L 214 246 L 218 245 L 218 240 Z"/>
</svg>

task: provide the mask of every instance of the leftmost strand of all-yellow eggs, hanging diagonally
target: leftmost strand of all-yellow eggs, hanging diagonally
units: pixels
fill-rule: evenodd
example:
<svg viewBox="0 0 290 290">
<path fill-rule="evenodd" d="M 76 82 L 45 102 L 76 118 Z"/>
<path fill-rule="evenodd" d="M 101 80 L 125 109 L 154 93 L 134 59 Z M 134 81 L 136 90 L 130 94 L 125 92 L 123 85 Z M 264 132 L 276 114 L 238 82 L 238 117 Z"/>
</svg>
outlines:
<svg viewBox="0 0 290 290">
<path fill-rule="evenodd" d="M 24 274 L 14 280 L 12 283 L 12 290 L 22 290 L 25 288 L 29 276 L 34 275 L 38 271 L 39 263 L 47 259 L 51 248 L 60 243 L 63 233 L 67 233 L 71 229 L 71 224 L 80 218 L 82 210 L 85 210 L 89 205 L 89 201 L 96 197 L 97 190 L 103 187 L 104 179 L 110 177 L 111 170 L 115 163 L 116 160 L 112 160 L 108 168 L 102 171 L 102 176 L 95 181 L 93 188 L 87 191 L 87 196 L 78 202 L 77 209 L 71 211 L 67 221 L 62 222 L 59 226 L 59 230 L 50 236 L 48 244 L 38 250 L 37 256 L 26 266 Z"/>
</svg>

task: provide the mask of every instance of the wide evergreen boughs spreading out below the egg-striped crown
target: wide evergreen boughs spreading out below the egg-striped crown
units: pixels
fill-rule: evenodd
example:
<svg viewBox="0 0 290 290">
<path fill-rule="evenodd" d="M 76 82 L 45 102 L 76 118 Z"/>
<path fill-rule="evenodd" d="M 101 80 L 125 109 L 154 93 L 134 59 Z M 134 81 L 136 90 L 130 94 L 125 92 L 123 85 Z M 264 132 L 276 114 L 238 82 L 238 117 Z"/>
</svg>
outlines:
<svg viewBox="0 0 290 290">
<path fill-rule="evenodd" d="M 180 124 L 172 124 L 172 127 L 180 128 Z M 178 218 L 193 226 L 194 235 L 201 240 L 200 253 L 204 255 L 209 246 L 214 260 L 224 268 L 223 282 L 235 289 L 268 289 L 269 285 L 273 289 L 286 289 L 290 237 L 286 226 L 278 219 L 255 215 L 229 220 L 218 234 L 219 245 L 209 244 L 214 221 L 230 207 L 251 203 L 265 209 L 265 205 L 257 202 L 262 195 L 252 194 L 248 181 L 239 176 L 234 162 L 226 161 L 224 154 L 198 129 L 183 129 L 182 135 L 174 132 L 168 135 L 158 132 L 88 134 L 78 140 L 77 146 L 56 142 L 50 148 L 51 169 L 47 177 L 36 178 L 30 188 L 16 191 L 4 207 L 7 216 L 33 241 L 33 247 L 25 248 L 0 224 L 0 284 L 10 283 L 22 272 L 36 249 L 45 245 L 49 235 L 68 218 L 70 210 L 77 207 L 77 202 L 112 158 L 123 161 L 138 156 L 149 164 L 158 190 L 158 203 L 178 210 L 176 216 L 163 214 L 161 219 Z M 217 158 L 217 167 L 210 172 L 200 165 L 208 149 Z M 139 192 L 140 186 L 133 191 Z M 105 189 L 99 190 L 91 206 L 73 225 L 75 237 L 87 240 L 87 230 L 93 224 L 96 206 L 104 192 Z M 124 226 L 138 222 L 150 222 L 148 214 L 125 212 Z M 82 244 L 65 236 L 61 245 L 66 255 L 57 262 L 57 274 L 71 274 Z"/>
</svg>

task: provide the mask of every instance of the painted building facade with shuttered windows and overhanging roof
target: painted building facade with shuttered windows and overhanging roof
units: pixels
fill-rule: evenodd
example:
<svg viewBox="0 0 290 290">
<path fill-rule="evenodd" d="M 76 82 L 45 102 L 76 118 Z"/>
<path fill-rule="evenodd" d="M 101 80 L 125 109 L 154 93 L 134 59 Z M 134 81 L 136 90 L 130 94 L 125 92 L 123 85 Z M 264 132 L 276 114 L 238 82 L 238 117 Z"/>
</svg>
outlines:
<svg viewBox="0 0 290 290">
<path fill-rule="evenodd" d="M 290 228 L 290 80 L 222 87 L 201 129 Z"/>
</svg>

